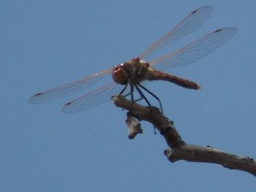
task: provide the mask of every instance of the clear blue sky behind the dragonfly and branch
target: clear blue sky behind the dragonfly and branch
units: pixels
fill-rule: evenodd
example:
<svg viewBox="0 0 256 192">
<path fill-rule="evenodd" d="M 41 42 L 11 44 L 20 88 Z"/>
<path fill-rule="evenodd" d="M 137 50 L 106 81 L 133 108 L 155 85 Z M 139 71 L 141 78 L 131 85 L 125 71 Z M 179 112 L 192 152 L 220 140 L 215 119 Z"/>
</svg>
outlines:
<svg viewBox="0 0 256 192">
<path fill-rule="evenodd" d="M 149 123 L 127 139 L 111 104 L 65 115 L 81 94 L 30 105 L 38 91 L 127 61 L 197 7 L 211 18 L 167 53 L 217 28 L 239 31 L 211 55 L 169 72 L 190 91 L 148 84 L 189 144 L 256 158 L 255 1 L 0 1 L 0 191 L 255 191 L 256 177 L 216 164 L 167 161 Z M 83 93 L 82 93 L 83 94 Z"/>
</svg>

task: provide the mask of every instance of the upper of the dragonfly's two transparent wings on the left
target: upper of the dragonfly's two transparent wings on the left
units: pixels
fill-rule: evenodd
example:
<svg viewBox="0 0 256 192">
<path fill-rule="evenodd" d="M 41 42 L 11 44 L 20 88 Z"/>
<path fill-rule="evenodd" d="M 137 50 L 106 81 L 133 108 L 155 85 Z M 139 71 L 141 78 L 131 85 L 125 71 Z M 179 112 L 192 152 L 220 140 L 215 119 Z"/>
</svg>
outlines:
<svg viewBox="0 0 256 192">
<path fill-rule="evenodd" d="M 112 69 L 107 69 L 97 74 L 93 74 L 89 77 L 85 77 L 81 80 L 61 85 L 58 88 L 53 88 L 48 91 L 34 94 L 34 96 L 31 96 L 31 98 L 29 99 L 29 104 L 38 104 L 53 101 L 83 91 L 95 82 L 102 80 L 102 78 L 109 75 L 111 71 Z"/>
</svg>

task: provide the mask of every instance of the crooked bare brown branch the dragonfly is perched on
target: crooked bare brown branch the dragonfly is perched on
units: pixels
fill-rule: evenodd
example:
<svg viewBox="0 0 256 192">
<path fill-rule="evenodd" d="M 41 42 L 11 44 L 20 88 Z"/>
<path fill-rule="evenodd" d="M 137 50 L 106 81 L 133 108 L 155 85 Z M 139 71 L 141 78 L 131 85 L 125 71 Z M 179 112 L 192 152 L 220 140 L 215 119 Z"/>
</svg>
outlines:
<svg viewBox="0 0 256 192">
<path fill-rule="evenodd" d="M 225 153 L 221 150 L 214 149 L 213 147 L 200 147 L 195 145 L 188 145 L 181 139 L 178 131 L 173 126 L 173 122 L 169 121 L 157 107 L 144 107 L 135 102 L 129 101 L 124 96 L 113 97 L 113 102 L 117 107 L 121 107 L 129 111 L 127 118 L 137 118 L 150 122 L 162 134 L 167 142 L 168 148 L 164 154 L 170 162 L 179 160 L 203 162 L 220 164 L 228 169 L 237 169 L 248 172 L 256 176 L 256 161 L 253 158 L 240 157 L 230 153 Z M 133 139 L 137 134 L 142 133 L 139 123 L 133 123 L 134 126 L 129 124 L 129 133 L 132 132 Z"/>
</svg>

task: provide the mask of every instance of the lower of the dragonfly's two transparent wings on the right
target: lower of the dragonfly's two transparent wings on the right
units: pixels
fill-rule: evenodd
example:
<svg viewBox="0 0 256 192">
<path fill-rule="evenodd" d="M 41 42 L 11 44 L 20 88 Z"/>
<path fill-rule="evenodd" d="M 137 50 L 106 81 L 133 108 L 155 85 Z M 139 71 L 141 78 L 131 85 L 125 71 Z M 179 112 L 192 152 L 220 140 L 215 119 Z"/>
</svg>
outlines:
<svg viewBox="0 0 256 192">
<path fill-rule="evenodd" d="M 195 42 L 192 42 L 180 50 L 168 53 L 154 61 L 151 61 L 149 64 L 151 64 L 154 69 L 158 70 L 166 70 L 170 67 L 191 64 L 216 50 L 217 47 L 233 37 L 237 31 L 237 28 L 233 27 L 220 28 L 200 39 L 197 39 Z"/>
</svg>

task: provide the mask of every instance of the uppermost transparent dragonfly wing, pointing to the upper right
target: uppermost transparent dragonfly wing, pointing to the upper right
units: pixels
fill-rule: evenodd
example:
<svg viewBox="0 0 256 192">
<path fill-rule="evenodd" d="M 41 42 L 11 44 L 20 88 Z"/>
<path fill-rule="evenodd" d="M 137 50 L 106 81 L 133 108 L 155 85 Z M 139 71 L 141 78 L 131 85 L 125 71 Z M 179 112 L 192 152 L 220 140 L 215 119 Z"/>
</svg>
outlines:
<svg viewBox="0 0 256 192">
<path fill-rule="evenodd" d="M 184 20 L 181 20 L 181 23 L 173 28 L 172 31 L 165 34 L 157 40 L 153 45 L 148 47 L 140 56 L 140 59 L 145 58 L 151 53 L 154 53 L 159 47 L 165 47 L 165 45 L 170 42 L 174 42 L 176 39 L 184 37 L 188 34 L 191 34 L 197 28 L 199 28 L 211 15 L 211 12 L 214 10 L 212 6 L 200 7 L 191 12 Z"/>
</svg>

